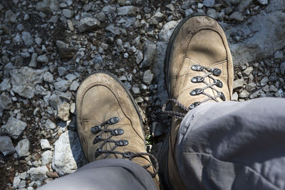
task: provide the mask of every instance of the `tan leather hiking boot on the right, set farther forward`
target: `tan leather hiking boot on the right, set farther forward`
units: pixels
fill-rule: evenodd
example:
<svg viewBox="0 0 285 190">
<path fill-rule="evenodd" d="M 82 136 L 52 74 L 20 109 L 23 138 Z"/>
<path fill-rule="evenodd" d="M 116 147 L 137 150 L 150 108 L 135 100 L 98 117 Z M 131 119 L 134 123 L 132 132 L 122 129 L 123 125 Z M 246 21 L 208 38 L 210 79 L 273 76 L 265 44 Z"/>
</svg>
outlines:
<svg viewBox="0 0 285 190">
<path fill-rule="evenodd" d="M 175 115 L 165 163 L 168 176 L 163 176 L 168 188 L 186 189 L 175 164 L 182 118 L 203 102 L 230 100 L 233 77 L 232 56 L 219 23 L 209 16 L 192 16 L 181 21 L 172 33 L 165 57 L 165 81 L 173 102 L 172 111 L 166 112 Z"/>
</svg>

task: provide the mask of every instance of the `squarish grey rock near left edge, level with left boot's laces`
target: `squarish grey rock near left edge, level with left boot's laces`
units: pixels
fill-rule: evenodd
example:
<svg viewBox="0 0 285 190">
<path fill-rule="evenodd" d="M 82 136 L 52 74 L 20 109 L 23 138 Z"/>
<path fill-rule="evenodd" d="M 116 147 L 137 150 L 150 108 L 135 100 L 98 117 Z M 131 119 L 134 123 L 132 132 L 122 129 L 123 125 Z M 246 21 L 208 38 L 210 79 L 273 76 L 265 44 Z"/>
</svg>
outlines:
<svg viewBox="0 0 285 190">
<path fill-rule="evenodd" d="M 26 122 L 9 117 L 8 122 L 2 128 L 6 134 L 14 139 L 18 139 L 21 133 L 26 129 Z"/>
</svg>

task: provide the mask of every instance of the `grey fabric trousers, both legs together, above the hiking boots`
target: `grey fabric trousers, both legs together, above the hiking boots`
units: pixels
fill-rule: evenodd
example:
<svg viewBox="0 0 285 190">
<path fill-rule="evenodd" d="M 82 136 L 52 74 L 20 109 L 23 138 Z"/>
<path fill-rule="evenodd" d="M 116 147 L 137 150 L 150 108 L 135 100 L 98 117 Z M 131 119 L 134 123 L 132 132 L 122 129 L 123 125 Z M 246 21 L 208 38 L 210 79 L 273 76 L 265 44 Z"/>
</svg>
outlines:
<svg viewBox="0 0 285 190">
<path fill-rule="evenodd" d="M 205 102 L 187 113 L 176 162 L 187 189 L 285 189 L 285 99 Z M 105 159 L 41 189 L 156 189 L 142 167 Z"/>
</svg>

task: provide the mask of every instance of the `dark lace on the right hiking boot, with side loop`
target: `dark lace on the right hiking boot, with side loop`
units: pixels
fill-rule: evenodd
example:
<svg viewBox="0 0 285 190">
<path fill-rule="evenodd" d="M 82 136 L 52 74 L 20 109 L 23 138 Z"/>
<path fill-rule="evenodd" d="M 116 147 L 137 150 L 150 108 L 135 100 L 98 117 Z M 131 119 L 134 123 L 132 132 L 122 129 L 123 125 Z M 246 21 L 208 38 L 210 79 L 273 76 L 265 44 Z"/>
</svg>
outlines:
<svg viewBox="0 0 285 190">
<path fill-rule="evenodd" d="M 192 96 L 195 96 L 195 95 L 206 95 L 207 98 L 205 98 L 201 102 L 193 102 L 189 107 L 185 107 L 184 105 L 182 105 L 180 102 L 178 102 L 175 99 L 169 99 L 162 106 L 162 113 L 165 113 L 167 115 L 172 115 L 172 116 L 176 117 L 177 119 L 182 120 L 185 117 L 185 115 L 186 115 L 185 113 L 174 112 L 174 111 L 167 111 L 166 110 L 166 107 L 167 107 L 169 102 L 175 102 L 175 104 L 178 105 L 180 108 L 182 108 L 182 110 L 184 110 L 185 112 L 189 112 L 190 110 L 194 109 L 198 105 L 200 105 L 200 104 L 202 104 L 204 102 L 207 102 L 209 100 L 214 100 L 215 102 L 219 102 L 219 100 L 217 100 L 218 97 L 221 100 L 223 100 L 223 101 L 226 100 L 226 97 L 224 96 L 224 93 L 222 93 L 221 91 L 217 90 L 217 88 L 222 88 L 223 87 L 222 81 L 219 80 L 219 79 L 215 79 L 212 76 L 212 75 L 214 75 L 214 76 L 221 75 L 222 71 L 219 68 L 208 68 L 208 67 L 204 67 L 202 65 L 192 65 L 191 69 L 194 70 L 194 71 L 197 71 L 197 72 L 203 72 L 204 73 L 204 75 L 202 75 L 202 76 L 197 75 L 197 76 L 193 77 L 191 79 L 191 83 L 204 83 L 205 86 L 203 88 L 195 88 L 194 90 L 192 90 L 190 92 L 190 95 L 192 95 Z M 210 78 L 210 79 L 213 80 L 213 82 L 212 83 L 207 83 L 205 78 Z M 208 93 L 206 93 L 205 90 L 207 88 L 211 88 L 212 90 L 217 92 L 217 95 L 213 96 L 213 95 L 209 95 Z"/>
</svg>

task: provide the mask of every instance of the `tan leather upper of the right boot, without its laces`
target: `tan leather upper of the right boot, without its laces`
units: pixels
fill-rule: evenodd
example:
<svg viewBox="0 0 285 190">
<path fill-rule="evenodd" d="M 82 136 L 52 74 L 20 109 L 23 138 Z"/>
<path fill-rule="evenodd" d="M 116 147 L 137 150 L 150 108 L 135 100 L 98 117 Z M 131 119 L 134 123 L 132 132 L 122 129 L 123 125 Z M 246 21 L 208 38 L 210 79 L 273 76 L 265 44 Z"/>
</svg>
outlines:
<svg viewBox="0 0 285 190">
<path fill-rule="evenodd" d="M 170 90 L 172 98 L 188 107 L 192 102 L 207 98 L 206 95 L 190 96 L 195 88 L 204 87 L 204 83 L 191 83 L 191 78 L 204 75 L 192 70 L 191 65 L 219 68 L 222 74 L 214 77 L 222 81 L 222 91 L 226 100 L 232 95 L 233 65 L 227 37 L 217 21 L 209 16 L 195 16 L 188 19 L 177 32 L 170 56 Z M 207 83 L 212 80 L 205 78 Z M 207 88 L 205 93 L 217 95 Z"/>
</svg>

